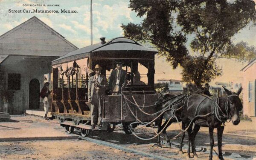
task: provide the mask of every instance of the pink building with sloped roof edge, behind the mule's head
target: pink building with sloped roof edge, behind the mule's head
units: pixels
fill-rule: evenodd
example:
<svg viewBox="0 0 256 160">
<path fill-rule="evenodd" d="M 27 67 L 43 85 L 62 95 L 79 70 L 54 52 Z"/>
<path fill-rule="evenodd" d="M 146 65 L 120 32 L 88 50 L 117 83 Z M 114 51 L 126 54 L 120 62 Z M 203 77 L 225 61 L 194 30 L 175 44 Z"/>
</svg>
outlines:
<svg viewBox="0 0 256 160">
<path fill-rule="evenodd" d="M 256 58 L 243 69 L 243 105 L 244 115 L 256 116 Z"/>
</svg>

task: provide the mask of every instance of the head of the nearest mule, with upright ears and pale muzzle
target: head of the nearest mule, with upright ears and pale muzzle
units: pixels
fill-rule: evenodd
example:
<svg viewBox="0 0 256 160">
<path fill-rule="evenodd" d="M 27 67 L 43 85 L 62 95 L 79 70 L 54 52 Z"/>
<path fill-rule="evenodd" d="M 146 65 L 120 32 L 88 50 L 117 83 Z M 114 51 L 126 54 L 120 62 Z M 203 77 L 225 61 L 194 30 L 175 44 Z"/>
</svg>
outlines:
<svg viewBox="0 0 256 160">
<path fill-rule="evenodd" d="M 223 86 L 222 86 L 223 87 Z M 227 114 L 232 120 L 232 123 L 234 125 L 238 125 L 240 123 L 240 117 L 239 117 L 239 111 L 243 109 L 243 104 L 241 103 L 241 100 L 239 99 L 239 94 L 242 91 L 242 88 L 239 88 L 239 90 L 235 93 L 232 91 L 229 91 L 225 87 L 223 87 L 227 96 L 227 103 L 226 103 L 226 109 Z"/>
</svg>

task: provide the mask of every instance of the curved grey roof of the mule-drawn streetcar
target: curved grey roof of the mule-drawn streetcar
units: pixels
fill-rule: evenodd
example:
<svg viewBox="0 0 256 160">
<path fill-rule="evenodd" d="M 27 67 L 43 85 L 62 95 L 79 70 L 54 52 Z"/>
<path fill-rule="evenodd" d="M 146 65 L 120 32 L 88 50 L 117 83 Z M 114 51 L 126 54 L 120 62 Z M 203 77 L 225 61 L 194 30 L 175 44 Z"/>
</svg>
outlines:
<svg viewBox="0 0 256 160">
<path fill-rule="evenodd" d="M 117 38 L 113 38 L 112 40 L 109 40 L 108 42 L 106 42 L 105 44 L 102 43 L 96 43 L 81 49 L 78 49 L 76 51 L 71 51 L 68 54 L 65 54 L 62 57 L 59 57 L 56 60 L 52 61 L 52 65 L 56 65 L 56 64 L 60 64 L 60 63 L 67 63 L 70 61 L 74 61 L 74 60 L 79 60 L 82 58 L 86 58 L 86 57 L 92 57 L 93 53 L 99 53 L 99 52 L 105 52 L 105 53 L 151 53 L 151 54 L 156 54 L 157 51 L 148 49 L 142 45 L 140 45 L 139 43 L 137 43 L 135 40 L 132 40 L 131 38 L 128 37 L 117 37 Z M 107 54 L 95 54 L 98 55 L 98 58 L 105 58 L 105 55 Z M 134 57 L 134 54 L 131 55 L 132 57 Z M 137 56 L 136 56 L 137 57 Z M 136 58 L 135 57 L 135 58 Z M 138 55 L 138 58 L 142 57 L 142 55 Z M 127 56 L 124 58 L 128 58 Z"/>
</svg>

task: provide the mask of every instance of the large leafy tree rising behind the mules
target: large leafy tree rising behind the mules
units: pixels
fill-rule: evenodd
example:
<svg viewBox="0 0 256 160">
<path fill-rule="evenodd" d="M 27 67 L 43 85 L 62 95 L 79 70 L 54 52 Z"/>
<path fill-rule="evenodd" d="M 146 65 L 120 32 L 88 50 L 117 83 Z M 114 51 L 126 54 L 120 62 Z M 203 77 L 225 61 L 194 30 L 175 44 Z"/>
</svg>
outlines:
<svg viewBox="0 0 256 160">
<path fill-rule="evenodd" d="M 238 31 L 255 22 L 254 6 L 251 0 L 130 0 L 129 7 L 145 18 L 121 27 L 125 36 L 152 43 L 174 69 L 183 68 L 183 80 L 201 87 L 222 75 L 216 59 L 256 57 L 253 47 L 232 42 Z"/>
</svg>

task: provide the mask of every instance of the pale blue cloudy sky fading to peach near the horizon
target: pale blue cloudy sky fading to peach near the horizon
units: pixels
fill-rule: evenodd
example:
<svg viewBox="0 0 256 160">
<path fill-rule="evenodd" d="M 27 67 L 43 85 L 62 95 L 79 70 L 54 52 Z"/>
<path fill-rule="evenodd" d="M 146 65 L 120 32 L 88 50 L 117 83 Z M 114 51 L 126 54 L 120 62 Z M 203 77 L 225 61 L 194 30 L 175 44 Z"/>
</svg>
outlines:
<svg viewBox="0 0 256 160">
<path fill-rule="evenodd" d="M 255 0 L 256 1 L 256 0 Z M 42 5 L 42 6 L 28 6 Z M 46 5 L 46 6 L 44 6 Z M 58 5 L 58 6 L 47 6 Z M 128 8 L 129 0 L 93 0 L 93 43 L 98 43 L 100 37 L 106 40 L 123 36 L 121 24 L 140 23 L 143 17 Z M 23 13 L 33 12 L 33 9 L 52 10 L 59 13 Z M 61 13 L 76 11 L 77 13 Z M 9 13 L 9 10 L 21 13 Z M 64 36 L 78 48 L 90 45 L 90 0 L 0 0 L 0 35 L 36 16 L 52 29 Z M 239 31 L 233 38 L 234 42 L 247 41 L 256 46 L 256 26 L 249 25 Z M 181 80 L 181 69 L 172 69 L 172 66 L 162 57 L 155 58 L 155 81 L 160 78 Z M 240 71 L 247 63 L 238 63 L 235 60 L 218 60 L 223 69 L 223 76 L 215 81 L 233 81 L 242 77 Z"/>
</svg>

